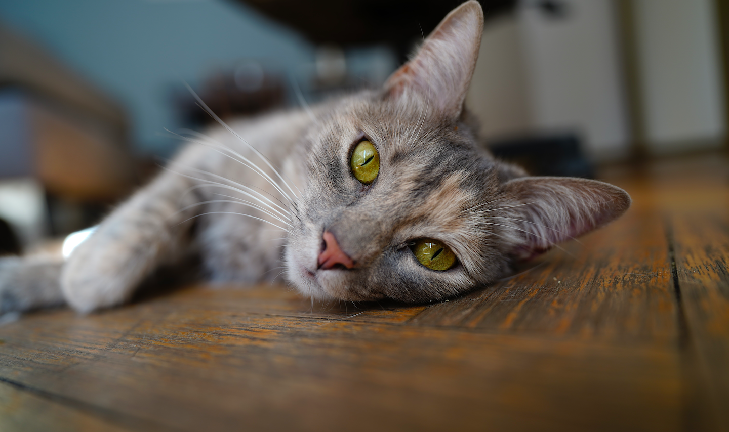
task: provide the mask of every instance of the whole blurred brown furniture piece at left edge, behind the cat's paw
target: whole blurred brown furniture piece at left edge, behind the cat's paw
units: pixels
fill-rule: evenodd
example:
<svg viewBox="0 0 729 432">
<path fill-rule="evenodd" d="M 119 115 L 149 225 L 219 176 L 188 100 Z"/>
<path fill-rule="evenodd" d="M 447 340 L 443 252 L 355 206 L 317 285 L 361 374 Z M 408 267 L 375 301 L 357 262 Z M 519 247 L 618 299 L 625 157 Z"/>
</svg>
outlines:
<svg viewBox="0 0 729 432">
<path fill-rule="evenodd" d="M 38 184 L 47 197 L 47 215 L 38 217 L 47 219 L 51 234 L 98 219 L 91 208 L 128 193 L 135 170 L 127 127 L 114 101 L 0 25 L 0 187 L 7 181 Z M 12 213 L 4 205 L 12 204 L 0 201 L 0 217 Z"/>
</svg>

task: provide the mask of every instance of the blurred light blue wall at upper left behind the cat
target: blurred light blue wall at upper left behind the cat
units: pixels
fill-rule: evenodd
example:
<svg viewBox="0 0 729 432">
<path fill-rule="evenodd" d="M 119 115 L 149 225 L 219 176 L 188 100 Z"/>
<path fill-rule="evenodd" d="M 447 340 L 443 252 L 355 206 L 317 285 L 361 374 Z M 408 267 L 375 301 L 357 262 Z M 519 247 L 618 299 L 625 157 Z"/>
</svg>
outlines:
<svg viewBox="0 0 729 432">
<path fill-rule="evenodd" d="M 313 60 L 295 31 L 215 0 L 0 0 L 0 21 L 44 45 L 128 110 L 139 152 L 169 154 L 171 89 L 255 58 L 287 74 Z"/>
</svg>

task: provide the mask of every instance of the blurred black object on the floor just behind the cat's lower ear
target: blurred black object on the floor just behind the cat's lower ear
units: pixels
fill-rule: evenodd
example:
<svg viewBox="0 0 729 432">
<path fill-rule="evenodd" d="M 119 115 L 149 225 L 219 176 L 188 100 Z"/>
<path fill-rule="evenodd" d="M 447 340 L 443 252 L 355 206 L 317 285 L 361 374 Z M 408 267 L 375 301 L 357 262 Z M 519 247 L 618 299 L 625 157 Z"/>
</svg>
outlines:
<svg viewBox="0 0 729 432">
<path fill-rule="evenodd" d="M 494 156 L 523 166 L 533 176 L 595 177 L 574 133 L 513 137 L 488 147 Z"/>
</svg>

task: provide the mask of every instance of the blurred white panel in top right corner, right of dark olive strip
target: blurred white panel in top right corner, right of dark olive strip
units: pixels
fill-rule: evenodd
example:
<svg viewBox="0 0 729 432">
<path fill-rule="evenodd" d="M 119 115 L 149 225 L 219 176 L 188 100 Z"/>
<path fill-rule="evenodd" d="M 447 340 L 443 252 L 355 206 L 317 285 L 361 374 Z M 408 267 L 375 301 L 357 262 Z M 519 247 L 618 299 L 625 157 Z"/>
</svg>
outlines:
<svg viewBox="0 0 729 432">
<path fill-rule="evenodd" d="M 635 0 L 642 111 L 653 152 L 725 135 L 714 2 Z"/>
</svg>

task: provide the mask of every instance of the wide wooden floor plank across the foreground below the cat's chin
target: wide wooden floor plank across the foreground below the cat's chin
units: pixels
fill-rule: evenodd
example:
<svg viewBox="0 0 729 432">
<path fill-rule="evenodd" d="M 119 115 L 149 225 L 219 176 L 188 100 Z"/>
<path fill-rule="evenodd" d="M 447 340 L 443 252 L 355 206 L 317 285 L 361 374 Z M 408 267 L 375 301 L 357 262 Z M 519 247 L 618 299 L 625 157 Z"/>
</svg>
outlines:
<svg viewBox="0 0 729 432">
<path fill-rule="evenodd" d="M 61 310 L 4 326 L 0 377 L 186 431 L 680 425 L 680 365 L 670 347 L 225 312 L 204 303 L 150 312 L 149 305 L 87 317 Z"/>
</svg>

